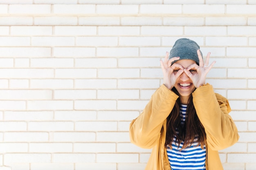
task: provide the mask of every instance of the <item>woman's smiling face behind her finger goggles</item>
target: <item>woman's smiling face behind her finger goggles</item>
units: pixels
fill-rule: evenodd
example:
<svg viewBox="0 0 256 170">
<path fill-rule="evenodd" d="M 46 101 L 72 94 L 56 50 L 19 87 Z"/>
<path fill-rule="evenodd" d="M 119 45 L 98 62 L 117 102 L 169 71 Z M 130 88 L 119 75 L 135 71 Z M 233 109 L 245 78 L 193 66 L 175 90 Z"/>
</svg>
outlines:
<svg viewBox="0 0 256 170">
<path fill-rule="evenodd" d="M 195 61 L 193 61 L 193 60 L 178 60 L 175 63 L 182 65 L 184 68 L 187 68 L 191 64 L 194 64 Z M 177 70 L 174 70 L 174 74 L 179 69 L 180 68 L 177 68 Z M 196 73 L 196 71 L 193 69 L 191 69 L 190 72 L 192 74 Z M 189 96 L 191 95 L 191 93 L 195 90 L 195 86 L 193 85 L 191 78 L 189 76 L 187 76 L 185 72 L 183 72 L 182 75 L 180 75 L 180 77 L 177 78 L 177 81 L 176 81 L 174 87 L 180 93 L 180 98 L 183 101 L 187 101 Z"/>
</svg>

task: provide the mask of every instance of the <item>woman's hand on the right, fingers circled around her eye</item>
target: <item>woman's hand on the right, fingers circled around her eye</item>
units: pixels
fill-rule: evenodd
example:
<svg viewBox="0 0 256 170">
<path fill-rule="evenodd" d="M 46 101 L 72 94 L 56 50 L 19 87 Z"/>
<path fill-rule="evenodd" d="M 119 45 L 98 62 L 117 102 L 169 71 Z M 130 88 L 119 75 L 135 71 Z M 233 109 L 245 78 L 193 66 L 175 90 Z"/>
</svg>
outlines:
<svg viewBox="0 0 256 170">
<path fill-rule="evenodd" d="M 197 51 L 197 53 L 199 58 L 199 66 L 197 64 L 191 64 L 187 68 L 184 68 L 184 72 L 192 79 L 195 88 L 198 88 L 199 86 L 205 84 L 207 73 L 209 73 L 213 65 L 216 63 L 216 61 L 214 61 L 211 63 L 211 65 L 209 65 L 209 58 L 211 54 L 210 52 L 207 54 L 205 63 L 199 50 Z"/>
</svg>

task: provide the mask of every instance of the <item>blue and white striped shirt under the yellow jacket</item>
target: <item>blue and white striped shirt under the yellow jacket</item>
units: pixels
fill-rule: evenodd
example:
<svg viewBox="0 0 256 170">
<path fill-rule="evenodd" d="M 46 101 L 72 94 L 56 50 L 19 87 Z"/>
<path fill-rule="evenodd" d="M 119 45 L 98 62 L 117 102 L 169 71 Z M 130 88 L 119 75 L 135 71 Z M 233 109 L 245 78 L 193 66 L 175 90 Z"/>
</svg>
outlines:
<svg viewBox="0 0 256 170">
<path fill-rule="evenodd" d="M 186 107 L 187 105 L 180 106 L 181 123 L 184 124 L 186 119 Z M 173 138 L 172 147 L 167 146 L 167 155 L 171 165 L 171 170 L 205 170 L 206 160 L 206 148 L 197 146 L 197 138 L 191 146 L 180 150 L 183 146 L 183 142 L 179 144 L 175 143 L 176 137 Z"/>
</svg>

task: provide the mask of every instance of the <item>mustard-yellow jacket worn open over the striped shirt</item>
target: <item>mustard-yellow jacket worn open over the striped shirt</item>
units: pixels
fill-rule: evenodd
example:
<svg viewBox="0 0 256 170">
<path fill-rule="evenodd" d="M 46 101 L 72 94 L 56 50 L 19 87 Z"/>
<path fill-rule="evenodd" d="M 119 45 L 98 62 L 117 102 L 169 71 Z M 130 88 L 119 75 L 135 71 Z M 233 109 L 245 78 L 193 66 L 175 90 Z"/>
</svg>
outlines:
<svg viewBox="0 0 256 170">
<path fill-rule="evenodd" d="M 206 169 L 223 170 L 218 150 L 235 144 L 238 131 L 229 116 L 228 100 L 214 93 L 209 84 L 193 93 L 193 104 L 206 133 Z M 152 95 L 143 112 L 130 123 L 130 140 L 141 148 L 153 148 L 145 170 L 171 170 L 166 148 L 166 118 L 179 96 L 162 85 Z"/>
</svg>

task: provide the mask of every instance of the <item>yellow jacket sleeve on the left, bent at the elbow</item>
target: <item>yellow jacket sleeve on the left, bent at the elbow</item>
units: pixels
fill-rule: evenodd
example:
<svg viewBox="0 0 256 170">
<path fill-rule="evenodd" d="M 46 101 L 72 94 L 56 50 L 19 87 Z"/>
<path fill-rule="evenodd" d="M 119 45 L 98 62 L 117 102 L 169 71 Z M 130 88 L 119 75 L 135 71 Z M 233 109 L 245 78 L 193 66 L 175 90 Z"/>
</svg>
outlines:
<svg viewBox="0 0 256 170">
<path fill-rule="evenodd" d="M 178 96 L 162 85 L 152 95 L 143 112 L 130 123 L 130 140 L 141 148 L 153 148 L 163 122 L 171 113 Z"/>
</svg>

